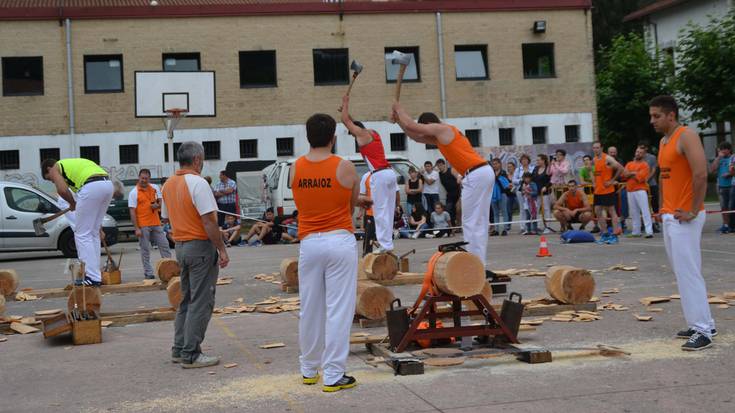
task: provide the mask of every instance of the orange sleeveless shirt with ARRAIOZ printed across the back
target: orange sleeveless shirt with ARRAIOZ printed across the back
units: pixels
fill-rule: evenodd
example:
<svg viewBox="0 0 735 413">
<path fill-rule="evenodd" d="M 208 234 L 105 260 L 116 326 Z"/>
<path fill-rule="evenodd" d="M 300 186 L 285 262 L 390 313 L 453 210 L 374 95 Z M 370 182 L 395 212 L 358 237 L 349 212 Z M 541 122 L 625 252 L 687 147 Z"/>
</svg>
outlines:
<svg viewBox="0 0 735 413">
<path fill-rule="evenodd" d="M 337 180 L 337 167 L 342 158 L 332 155 L 312 162 L 305 156 L 296 160 L 293 176 L 293 198 L 299 211 L 299 239 L 309 234 L 344 229 L 352 232 L 350 202 L 352 189 Z"/>
</svg>

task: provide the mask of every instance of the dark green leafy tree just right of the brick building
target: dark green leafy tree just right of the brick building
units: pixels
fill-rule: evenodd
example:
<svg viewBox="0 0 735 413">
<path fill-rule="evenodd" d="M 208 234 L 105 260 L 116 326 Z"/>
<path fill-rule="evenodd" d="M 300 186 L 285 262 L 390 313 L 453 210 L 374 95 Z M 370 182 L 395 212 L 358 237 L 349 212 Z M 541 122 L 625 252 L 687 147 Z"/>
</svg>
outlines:
<svg viewBox="0 0 735 413">
<path fill-rule="evenodd" d="M 620 35 L 600 53 L 597 73 L 597 112 L 600 140 L 615 145 L 630 158 L 639 141 L 658 141 L 648 119 L 648 102 L 670 92 L 670 63 L 651 56 L 636 33 Z"/>
</svg>

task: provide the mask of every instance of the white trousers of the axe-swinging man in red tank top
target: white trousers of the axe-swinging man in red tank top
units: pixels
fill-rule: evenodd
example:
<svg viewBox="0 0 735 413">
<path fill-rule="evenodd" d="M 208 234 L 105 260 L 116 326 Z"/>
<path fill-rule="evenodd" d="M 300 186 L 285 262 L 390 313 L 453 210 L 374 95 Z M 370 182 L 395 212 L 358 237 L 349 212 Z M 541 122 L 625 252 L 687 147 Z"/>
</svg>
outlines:
<svg viewBox="0 0 735 413">
<path fill-rule="evenodd" d="M 393 250 L 393 215 L 396 211 L 397 177 L 393 169 L 382 169 L 370 176 L 375 237 L 384 250 Z"/>
</svg>

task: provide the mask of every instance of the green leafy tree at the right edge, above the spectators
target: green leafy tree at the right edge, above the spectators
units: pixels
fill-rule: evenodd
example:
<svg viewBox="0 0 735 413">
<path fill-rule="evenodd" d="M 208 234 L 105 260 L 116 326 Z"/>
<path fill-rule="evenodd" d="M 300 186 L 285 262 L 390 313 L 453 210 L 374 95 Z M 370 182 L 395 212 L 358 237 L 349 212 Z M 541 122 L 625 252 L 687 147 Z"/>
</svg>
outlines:
<svg viewBox="0 0 735 413">
<path fill-rule="evenodd" d="M 735 9 L 707 27 L 690 23 L 682 30 L 674 85 L 700 127 L 735 125 Z"/>
</svg>

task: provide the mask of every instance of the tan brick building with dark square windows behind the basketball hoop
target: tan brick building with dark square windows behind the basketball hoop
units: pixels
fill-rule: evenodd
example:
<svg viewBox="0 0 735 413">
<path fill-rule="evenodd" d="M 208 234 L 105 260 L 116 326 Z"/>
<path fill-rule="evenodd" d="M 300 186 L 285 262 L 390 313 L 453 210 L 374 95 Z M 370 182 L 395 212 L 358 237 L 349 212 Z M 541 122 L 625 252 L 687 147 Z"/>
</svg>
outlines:
<svg viewBox="0 0 735 413">
<path fill-rule="evenodd" d="M 393 49 L 414 56 L 406 108 L 436 112 L 486 154 L 590 142 L 590 7 L 590 0 L 4 2 L 0 179 L 39 183 L 38 165 L 50 156 L 89 157 L 119 178 L 140 167 L 168 174 L 161 120 L 136 117 L 135 73 L 182 67 L 215 75 L 215 116 L 187 118 L 176 132 L 176 141 L 205 142 L 206 174 L 233 160 L 298 156 L 307 117 L 337 117 L 352 59 L 365 67 L 353 116 L 382 134 L 390 154 L 435 160 L 438 151 L 388 122 L 395 68 L 385 53 Z M 341 127 L 337 152 L 355 153 Z"/>
</svg>

